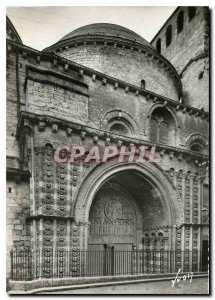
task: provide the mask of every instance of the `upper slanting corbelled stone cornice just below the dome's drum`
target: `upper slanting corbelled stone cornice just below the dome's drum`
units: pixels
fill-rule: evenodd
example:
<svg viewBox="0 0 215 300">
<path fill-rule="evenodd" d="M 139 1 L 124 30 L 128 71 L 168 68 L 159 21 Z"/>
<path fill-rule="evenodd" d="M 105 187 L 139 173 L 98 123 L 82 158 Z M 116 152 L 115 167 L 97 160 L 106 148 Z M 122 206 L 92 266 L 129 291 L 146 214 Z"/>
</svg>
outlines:
<svg viewBox="0 0 215 300">
<path fill-rule="evenodd" d="M 133 84 L 127 83 L 125 81 L 119 80 L 117 78 L 108 76 L 106 74 L 103 74 L 101 72 L 95 71 L 93 69 L 90 69 L 88 67 L 82 66 L 80 64 L 74 63 L 68 59 L 62 58 L 60 56 L 57 56 L 52 53 L 46 53 L 46 52 L 40 52 L 38 50 L 29 48 L 24 45 L 20 45 L 17 43 L 14 43 L 10 40 L 7 40 L 8 44 L 8 52 L 10 51 L 18 51 L 20 54 L 23 55 L 25 59 L 27 59 L 27 53 L 30 56 L 33 56 L 35 58 L 35 63 L 38 64 L 38 56 L 40 57 L 39 61 L 42 64 L 41 58 L 45 59 L 46 61 L 51 61 L 54 65 L 61 65 L 65 68 L 65 70 L 75 70 L 79 75 L 81 76 L 89 76 L 92 78 L 93 81 L 100 80 L 103 83 L 106 84 L 112 84 L 115 89 L 121 88 L 124 89 L 125 92 L 129 91 L 129 93 L 133 93 L 136 97 L 139 95 L 143 95 L 146 97 L 147 101 L 152 101 L 152 103 L 155 103 L 156 101 L 161 101 L 165 105 L 169 105 L 173 107 L 176 111 L 181 110 L 183 113 L 188 113 L 189 115 L 194 115 L 195 117 L 201 117 L 209 120 L 209 113 L 204 112 L 200 109 L 197 109 L 195 107 L 185 105 L 183 103 L 179 103 L 178 101 L 175 101 L 173 99 L 169 99 L 167 97 L 164 97 L 162 95 L 156 94 L 149 90 L 141 89 L 138 86 L 135 86 Z M 48 71 L 48 70 L 47 70 Z M 56 72 L 56 71 L 53 71 Z M 57 72 L 56 72 L 57 74 Z"/>
</svg>

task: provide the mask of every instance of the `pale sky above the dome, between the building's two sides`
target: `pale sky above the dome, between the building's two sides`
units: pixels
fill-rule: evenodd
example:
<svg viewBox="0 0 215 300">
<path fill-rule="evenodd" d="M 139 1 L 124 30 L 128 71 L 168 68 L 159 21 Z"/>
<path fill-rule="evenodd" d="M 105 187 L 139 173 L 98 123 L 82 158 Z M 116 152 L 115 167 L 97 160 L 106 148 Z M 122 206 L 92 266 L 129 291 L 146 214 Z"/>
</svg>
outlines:
<svg viewBox="0 0 215 300">
<path fill-rule="evenodd" d="M 74 29 L 92 23 L 113 23 L 141 35 L 148 42 L 176 6 L 43 6 L 8 7 L 23 43 L 42 50 Z"/>
</svg>

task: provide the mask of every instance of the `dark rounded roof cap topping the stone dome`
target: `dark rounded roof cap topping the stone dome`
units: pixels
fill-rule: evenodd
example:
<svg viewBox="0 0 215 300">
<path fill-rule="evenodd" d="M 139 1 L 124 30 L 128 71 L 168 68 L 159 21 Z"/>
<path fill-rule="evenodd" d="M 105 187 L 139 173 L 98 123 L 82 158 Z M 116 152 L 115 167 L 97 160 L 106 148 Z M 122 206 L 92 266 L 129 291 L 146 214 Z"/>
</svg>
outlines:
<svg viewBox="0 0 215 300">
<path fill-rule="evenodd" d="M 148 46 L 152 49 L 154 47 L 142 38 L 137 33 L 133 32 L 130 29 L 127 29 L 120 25 L 109 24 L 109 23 L 94 23 L 82 26 L 65 35 L 58 43 L 69 40 L 71 38 L 80 37 L 80 36 L 107 36 L 107 37 L 118 37 L 127 39 L 133 42 L 138 42 L 144 46 Z"/>
</svg>

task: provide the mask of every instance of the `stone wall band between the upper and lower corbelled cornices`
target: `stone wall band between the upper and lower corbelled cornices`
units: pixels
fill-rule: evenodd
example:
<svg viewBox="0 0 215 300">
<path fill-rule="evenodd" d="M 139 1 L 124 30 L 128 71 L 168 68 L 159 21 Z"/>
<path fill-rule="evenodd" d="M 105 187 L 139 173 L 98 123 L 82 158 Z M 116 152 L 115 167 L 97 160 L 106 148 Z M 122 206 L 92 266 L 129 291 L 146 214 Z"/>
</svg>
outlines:
<svg viewBox="0 0 215 300">
<path fill-rule="evenodd" d="M 115 87 L 99 79 L 92 80 L 88 75 L 76 77 L 73 73 L 66 72 L 62 67 L 51 70 L 52 82 L 44 84 L 33 79 L 27 80 L 26 89 L 23 89 L 26 79 L 26 60 L 20 58 L 22 68 L 19 69 L 20 95 L 22 107 L 29 112 L 40 115 L 50 115 L 79 124 L 108 130 L 108 122 L 111 119 L 119 119 L 128 122 L 132 128 L 133 137 L 150 140 L 150 119 L 149 112 L 156 105 L 163 105 L 162 102 L 154 103 L 153 98 L 144 95 L 136 96 L 133 91 L 126 91 L 122 87 Z M 42 63 L 41 63 L 42 64 Z M 38 67 L 37 64 L 32 64 Z M 41 68 L 41 66 L 40 66 Z M 37 71 L 35 71 L 36 74 Z M 38 72 L 40 70 L 38 69 Z M 58 74 L 67 75 L 64 79 L 65 88 L 58 86 L 55 81 Z M 76 87 L 79 90 L 70 90 L 69 80 L 76 80 Z M 204 79 L 201 79 L 204 80 Z M 82 85 L 85 85 L 81 87 Z M 87 88 L 86 88 L 87 87 Z M 81 92 L 82 91 L 82 92 Z M 25 107 L 25 108 L 24 108 Z M 208 122 L 205 118 L 195 116 L 189 111 L 176 110 L 169 107 L 175 115 L 177 138 L 170 141 L 170 144 L 177 147 L 185 147 L 186 140 L 191 134 L 201 133 L 208 136 Z"/>
</svg>

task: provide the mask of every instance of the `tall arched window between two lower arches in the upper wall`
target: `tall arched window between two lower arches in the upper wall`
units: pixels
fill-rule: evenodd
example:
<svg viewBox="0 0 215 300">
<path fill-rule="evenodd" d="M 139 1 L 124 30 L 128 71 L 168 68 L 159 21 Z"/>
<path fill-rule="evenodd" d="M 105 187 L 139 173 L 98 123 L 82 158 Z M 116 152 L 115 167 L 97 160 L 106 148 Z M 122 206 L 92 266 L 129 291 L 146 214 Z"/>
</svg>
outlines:
<svg viewBox="0 0 215 300">
<path fill-rule="evenodd" d="M 165 107 L 155 108 L 150 120 L 150 140 L 175 145 L 176 124 L 172 114 Z"/>
</svg>

